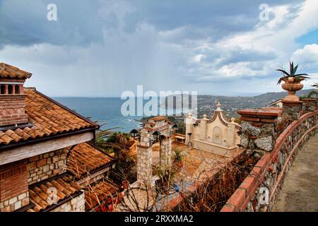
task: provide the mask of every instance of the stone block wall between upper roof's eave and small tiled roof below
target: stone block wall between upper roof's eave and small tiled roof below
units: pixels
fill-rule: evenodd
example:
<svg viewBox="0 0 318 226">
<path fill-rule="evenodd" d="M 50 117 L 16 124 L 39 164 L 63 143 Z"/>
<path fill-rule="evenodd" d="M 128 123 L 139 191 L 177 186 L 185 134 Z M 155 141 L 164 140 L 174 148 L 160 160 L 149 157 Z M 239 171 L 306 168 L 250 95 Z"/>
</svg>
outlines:
<svg viewBox="0 0 318 226">
<path fill-rule="evenodd" d="M 60 149 L 28 159 L 28 184 L 66 172 L 67 150 Z"/>
</svg>

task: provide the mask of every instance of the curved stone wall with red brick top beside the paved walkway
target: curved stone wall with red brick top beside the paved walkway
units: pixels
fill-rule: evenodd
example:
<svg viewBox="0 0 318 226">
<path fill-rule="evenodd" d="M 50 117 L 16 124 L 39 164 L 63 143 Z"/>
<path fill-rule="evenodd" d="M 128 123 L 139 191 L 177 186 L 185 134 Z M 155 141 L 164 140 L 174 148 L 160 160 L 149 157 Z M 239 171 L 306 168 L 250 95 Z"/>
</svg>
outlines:
<svg viewBox="0 0 318 226">
<path fill-rule="evenodd" d="M 268 211 L 286 172 L 305 142 L 318 132 L 318 110 L 293 121 L 264 153 L 221 211 Z"/>
</svg>

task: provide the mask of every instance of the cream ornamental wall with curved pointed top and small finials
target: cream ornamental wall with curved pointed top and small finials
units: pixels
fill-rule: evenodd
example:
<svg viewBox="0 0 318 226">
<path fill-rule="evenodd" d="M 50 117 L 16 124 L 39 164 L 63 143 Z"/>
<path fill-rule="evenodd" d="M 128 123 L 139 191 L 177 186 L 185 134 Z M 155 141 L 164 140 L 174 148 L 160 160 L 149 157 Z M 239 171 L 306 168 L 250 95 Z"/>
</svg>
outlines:
<svg viewBox="0 0 318 226">
<path fill-rule="evenodd" d="M 206 114 L 203 119 L 195 119 L 189 114 L 186 119 L 186 144 L 218 155 L 230 156 L 236 152 L 240 143 L 237 135 L 240 125 L 234 122 L 234 118 L 228 121 L 220 107 L 218 102 L 211 119 Z"/>
</svg>

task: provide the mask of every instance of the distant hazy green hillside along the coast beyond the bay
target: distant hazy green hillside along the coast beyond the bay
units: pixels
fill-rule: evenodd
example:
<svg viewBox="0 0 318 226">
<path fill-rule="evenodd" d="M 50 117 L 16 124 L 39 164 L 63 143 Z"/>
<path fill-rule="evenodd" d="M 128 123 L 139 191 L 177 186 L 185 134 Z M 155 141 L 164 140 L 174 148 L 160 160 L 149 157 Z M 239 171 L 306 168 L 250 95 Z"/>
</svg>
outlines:
<svg viewBox="0 0 318 226">
<path fill-rule="evenodd" d="M 303 95 L 308 95 L 312 90 L 300 90 L 297 92 L 298 97 Z M 198 95 L 197 107 L 198 107 L 198 117 L 203 117 L 207 114 L 211 117 L 214 109 L 216 109 L 217 102 L 220 102 L 224 110 L 225 115 L 230 117 L 237 117 L 237 110 L 246 108 L 260 108 L 266 107 L 271 102 L 279 100 L 287 95 L 287 92 L 280 93 L 265 93 L 262 95 L 257 95 L 254 97 L 227 97 L 227 96 L 213 96 L 213 95 Z M 191 100 L 191 98 L 189 98 Z M 165 107 L 163 103 L 160 103 L 161 107 Z M 169 108 L 174 108 L 175 106 L 166 106 Z"/>
</svg>

